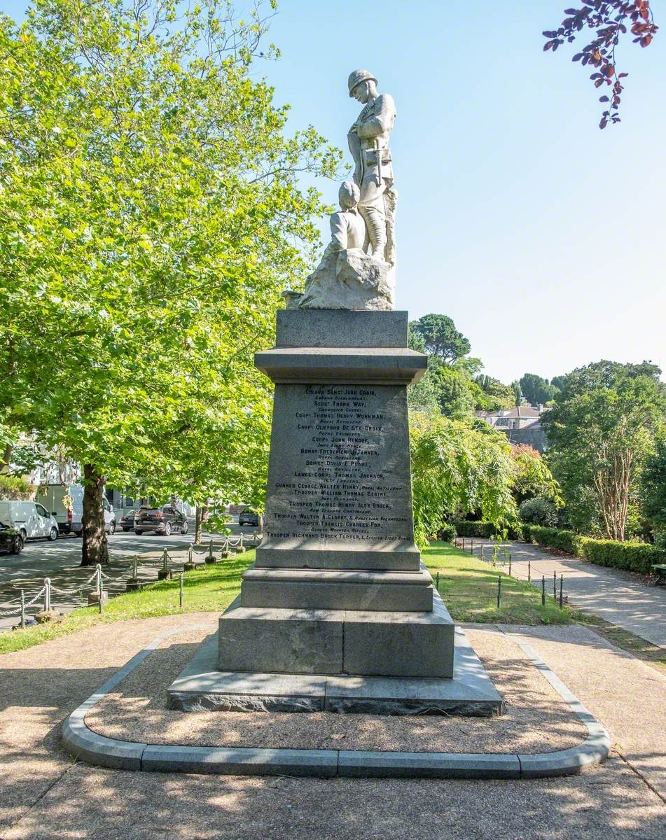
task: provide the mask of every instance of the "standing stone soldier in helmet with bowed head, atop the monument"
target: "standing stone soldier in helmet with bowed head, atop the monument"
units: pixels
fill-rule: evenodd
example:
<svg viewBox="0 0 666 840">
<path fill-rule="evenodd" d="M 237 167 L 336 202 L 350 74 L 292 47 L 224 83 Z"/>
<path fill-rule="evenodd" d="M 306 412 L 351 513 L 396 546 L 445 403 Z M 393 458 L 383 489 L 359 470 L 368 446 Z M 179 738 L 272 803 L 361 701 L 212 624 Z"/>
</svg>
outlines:
<svg viewBox="0 0 666 840">
<path fill-rule="evenodd" d="M 365 220 L 370 254 L 375 260 L 395 263 L 394 213 L 396 195 L 389 137 L 395 123 L 395 103 L 379 93 L 377 79 L 367 70 L 349 76 L 349 95 L 363 103 L 357 121 L 347 134 L 354 159 L 354 181 L 361 196 L 358 211 Z"/>
</svg>

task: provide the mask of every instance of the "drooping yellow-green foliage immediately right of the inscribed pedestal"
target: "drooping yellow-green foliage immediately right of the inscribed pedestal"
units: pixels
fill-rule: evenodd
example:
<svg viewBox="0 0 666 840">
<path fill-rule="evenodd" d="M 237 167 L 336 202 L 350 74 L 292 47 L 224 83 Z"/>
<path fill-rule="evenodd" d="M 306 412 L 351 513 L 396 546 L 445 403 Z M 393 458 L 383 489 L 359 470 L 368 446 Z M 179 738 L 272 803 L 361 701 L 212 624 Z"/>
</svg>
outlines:
<svg viewBox="0 0 666 840">
<path fill-rule="evenodd" d="M 515 518 L 506 438 L 471 423 L 415 412 L 410 448 L 414 521 L 420 545 L 447 517 L 479 511 L 490 522 Z"/>
</svg>

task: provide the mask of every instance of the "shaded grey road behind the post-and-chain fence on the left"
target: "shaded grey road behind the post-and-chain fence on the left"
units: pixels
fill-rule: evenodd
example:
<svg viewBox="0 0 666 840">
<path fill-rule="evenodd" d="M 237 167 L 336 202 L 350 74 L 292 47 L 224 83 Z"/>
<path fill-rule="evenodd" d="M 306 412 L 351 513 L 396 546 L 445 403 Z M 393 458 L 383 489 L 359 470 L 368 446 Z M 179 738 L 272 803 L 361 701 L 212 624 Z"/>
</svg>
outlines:
<svg viewBox="0 0 666 840">
<path fill-rule="evenodd" d="M 240 528 L 237 520 L 230 522 L 229 528 L 233 536 L 243 533 L 249 538 L 256 534 L 256 528 Z M 224 539 L 204 531 L 203 542 L 208 543 L 210 538 L 213 538 L 214 545 L 218 548 Z M 164 549 L 170 557 L 182 563 L 192 543 L 193 523 L 189 533 L 172 534 L 170 537 L 160 537 L 152 533 L 138 536 L 133 531 L 117 531 L 108 538 L 109 564 L 103 569 L 104 574 L 110 578 L 105 581 L 108 593 L 113 596 L 125 591 L 124 581 L 129 576 L 131 564 L 136 556 L 140 557 L 139 577 L 151 577 L 154 580 L 156 567 Z M 50 578 L 52 585 L 59 590 L 72 590 L 84 585 L 94 570 L 89 567 L 82 569 L 81 544 L 80 538 L 66 536 L 59 537 L 55 543 L 45 540 L 30 541 L 18 557 L 13 554 L 0 554 L 0 612 L 13 606 L 7 602 L 18 598 L 21 590 L 24 590 L 26 601 L 29 601 L 40 591 L 45 577 Z M 54 591 L 51 599 L 52 606 L 62 612 L 69 612 L 82 603 L 85 601 L 82 601 L 77 593 L 63 595 Z M 13 627 L 16 622 L 16 617 L 0 615 L 0 630 Z"/>
</svg>

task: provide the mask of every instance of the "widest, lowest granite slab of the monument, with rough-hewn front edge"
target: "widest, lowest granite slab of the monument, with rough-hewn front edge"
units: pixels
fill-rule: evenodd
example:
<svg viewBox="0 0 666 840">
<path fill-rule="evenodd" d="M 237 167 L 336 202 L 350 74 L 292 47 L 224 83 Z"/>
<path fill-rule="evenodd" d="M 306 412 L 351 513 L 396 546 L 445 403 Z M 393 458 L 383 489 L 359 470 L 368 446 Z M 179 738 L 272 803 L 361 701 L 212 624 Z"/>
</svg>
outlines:
<svg viewBox="0 0 666 840">
<path fill-rule="evenodd" d="M 218 646 L 214 633 L 174 680 L 168 690 L 173 709 L 468 717 L 504 712 L 504 701 L 460 627 L 451 679 L 219 671 Z"/>
</svg>

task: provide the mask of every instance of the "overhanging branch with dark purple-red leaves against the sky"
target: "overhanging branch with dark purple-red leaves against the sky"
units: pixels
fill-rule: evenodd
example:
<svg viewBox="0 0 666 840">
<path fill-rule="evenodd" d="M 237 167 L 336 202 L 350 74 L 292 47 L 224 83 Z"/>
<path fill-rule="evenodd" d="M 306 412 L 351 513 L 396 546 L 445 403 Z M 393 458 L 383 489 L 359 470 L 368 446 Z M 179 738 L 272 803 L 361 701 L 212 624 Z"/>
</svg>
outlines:
<svg viewBox="0 0 666 840">
<path fill-rule="evenodd" d="M 620 122 L 618 111 L 624 90 L 621 80 L 628 75 L 617 72 L 616 46 L 631 30 L 633 43 L 647 47 L 658 30 L 649 0 L 583 0 L 580 8 L 567 8 L 564 14 L 567 17 L 558 29 L 543 33 L 547 38 L 543 50 L 555 52 L 565 40 L 572 43 L 581 29 L 595 30 L 595 39 L 576 53 L 573 60 L 595 68 L 589 76 L 595 87 L 611 87 L 611 91 L 599 100 L 606 105 L 599 123 L 600 129 L 605 129 L 609 122 Z"/>
</svg>

